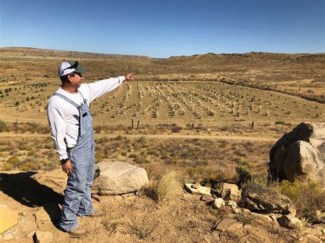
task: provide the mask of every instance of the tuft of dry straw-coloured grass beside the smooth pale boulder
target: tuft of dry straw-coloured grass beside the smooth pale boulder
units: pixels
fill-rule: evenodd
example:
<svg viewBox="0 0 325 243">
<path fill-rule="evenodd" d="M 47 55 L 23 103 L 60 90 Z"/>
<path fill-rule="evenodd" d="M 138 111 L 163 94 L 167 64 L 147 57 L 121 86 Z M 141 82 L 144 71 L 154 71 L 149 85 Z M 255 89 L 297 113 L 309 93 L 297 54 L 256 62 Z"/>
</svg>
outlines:
<svg viewBox="0 0 325 243">
<path fill-rule="evenodd" d="M 176 178 L 176 172 L 171 171 L 163 175 L 163 177 L 157 181 L 150 181 L 145 189 L 147 196 L 160 202 L 168 199 L 169 196 L 171 196 L 173 188 L 178 185 Z"/>
</svg>

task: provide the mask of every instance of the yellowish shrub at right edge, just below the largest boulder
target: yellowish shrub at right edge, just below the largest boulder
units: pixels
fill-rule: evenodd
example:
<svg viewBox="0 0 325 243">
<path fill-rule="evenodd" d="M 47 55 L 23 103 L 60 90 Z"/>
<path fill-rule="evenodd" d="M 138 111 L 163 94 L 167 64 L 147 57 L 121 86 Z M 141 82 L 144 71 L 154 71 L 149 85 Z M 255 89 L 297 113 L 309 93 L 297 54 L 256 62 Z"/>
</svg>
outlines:
<svg viewBox="0 0 325 243">
<path fill-rule="evenodd" d="M 325 192 L 315 181 L 309 183 L 282 181 L 279 189 L 296 203 L 299 216 L 308 218 L 316 210 L 324 210 Z"/>
</svg>

